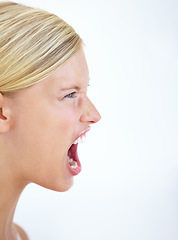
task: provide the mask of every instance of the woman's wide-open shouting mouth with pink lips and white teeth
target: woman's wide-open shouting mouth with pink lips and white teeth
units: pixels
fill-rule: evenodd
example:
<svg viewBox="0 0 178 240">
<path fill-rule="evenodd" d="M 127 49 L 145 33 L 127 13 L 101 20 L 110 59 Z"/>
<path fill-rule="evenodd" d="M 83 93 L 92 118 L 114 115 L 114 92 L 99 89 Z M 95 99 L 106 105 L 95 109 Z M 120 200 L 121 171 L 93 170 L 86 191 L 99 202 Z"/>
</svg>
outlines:
<svg viewBox="0 0 178 240">
<path fill-rule="evenodd" d="M 81 163 L 79 161 L 77 147 L 78 143 L 84 142 L 85 134 L 89 129 L 82 132 L 82 134 L 74 141 L 74 143 L 70 146 L 67 153 L 68 167 L 72 175 L 77 175 L 81 172 Z"/>
</svg>

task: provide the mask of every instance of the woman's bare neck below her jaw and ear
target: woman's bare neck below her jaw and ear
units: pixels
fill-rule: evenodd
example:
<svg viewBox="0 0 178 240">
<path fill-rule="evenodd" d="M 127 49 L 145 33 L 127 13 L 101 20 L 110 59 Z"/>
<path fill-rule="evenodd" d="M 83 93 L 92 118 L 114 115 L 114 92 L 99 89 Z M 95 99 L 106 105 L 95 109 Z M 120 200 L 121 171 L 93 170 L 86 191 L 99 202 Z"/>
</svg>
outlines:
<svg viewBox="0 0 178 240">
<path fill-rule="evenodd" d="M 1 168 L 3 169 L 3 168 Z M 15 240 L 16 229 L 13 217 L 18 199 L 25 187 L 9 177 L 9 174 L 0 176 L 0 239 Z"/>
</svg>

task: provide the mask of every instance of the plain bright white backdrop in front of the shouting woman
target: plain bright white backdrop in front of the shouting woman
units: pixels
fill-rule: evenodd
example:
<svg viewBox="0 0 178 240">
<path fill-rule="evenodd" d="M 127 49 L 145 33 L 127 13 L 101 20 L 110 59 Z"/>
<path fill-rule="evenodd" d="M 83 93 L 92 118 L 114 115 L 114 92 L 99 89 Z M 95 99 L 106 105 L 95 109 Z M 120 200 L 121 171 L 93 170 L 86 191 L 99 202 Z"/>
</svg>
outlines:
<svg viewBox="0 0 178 240">
<path fill-rule="evenodd" d="M 178 1 L 18 2 L 81 35 L 102 120 L 79 146 L 72 189 L 29 185 L 15 221 L 31 240 L 177 240 Z"/>
</svg>

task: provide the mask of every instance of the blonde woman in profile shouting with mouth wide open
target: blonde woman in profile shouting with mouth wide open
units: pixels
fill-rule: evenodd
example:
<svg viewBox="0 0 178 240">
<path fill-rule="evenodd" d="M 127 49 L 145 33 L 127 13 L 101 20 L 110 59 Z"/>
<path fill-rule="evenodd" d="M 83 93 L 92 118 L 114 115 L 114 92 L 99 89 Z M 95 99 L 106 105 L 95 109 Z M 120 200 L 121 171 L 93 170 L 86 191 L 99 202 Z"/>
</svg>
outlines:
<svg viewBox="0 0 178 240">
<path fill-rule="evenodd" d="M 62 19 L 0 3 L 0 239 L 28 239 L 13 224 L 33 182 L 67 191 L 81 170 L 77 142 L 99 121 L 87 97 L 82 40 Z"/>
</svg>

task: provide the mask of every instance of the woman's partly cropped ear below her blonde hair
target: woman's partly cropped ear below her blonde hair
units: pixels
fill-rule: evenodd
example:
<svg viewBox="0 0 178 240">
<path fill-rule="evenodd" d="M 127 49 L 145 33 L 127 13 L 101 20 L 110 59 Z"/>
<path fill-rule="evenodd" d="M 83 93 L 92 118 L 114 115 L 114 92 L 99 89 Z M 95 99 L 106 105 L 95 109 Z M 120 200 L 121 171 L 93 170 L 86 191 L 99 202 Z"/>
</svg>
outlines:
<svg viewBox="0 0 178 240">
<path fill-rule="evenodd" d="M 5 97 L 0 93 L 0 134 L 7 132 L 11 126 L 10 109 L 6 105 Z"/>
</svg>

